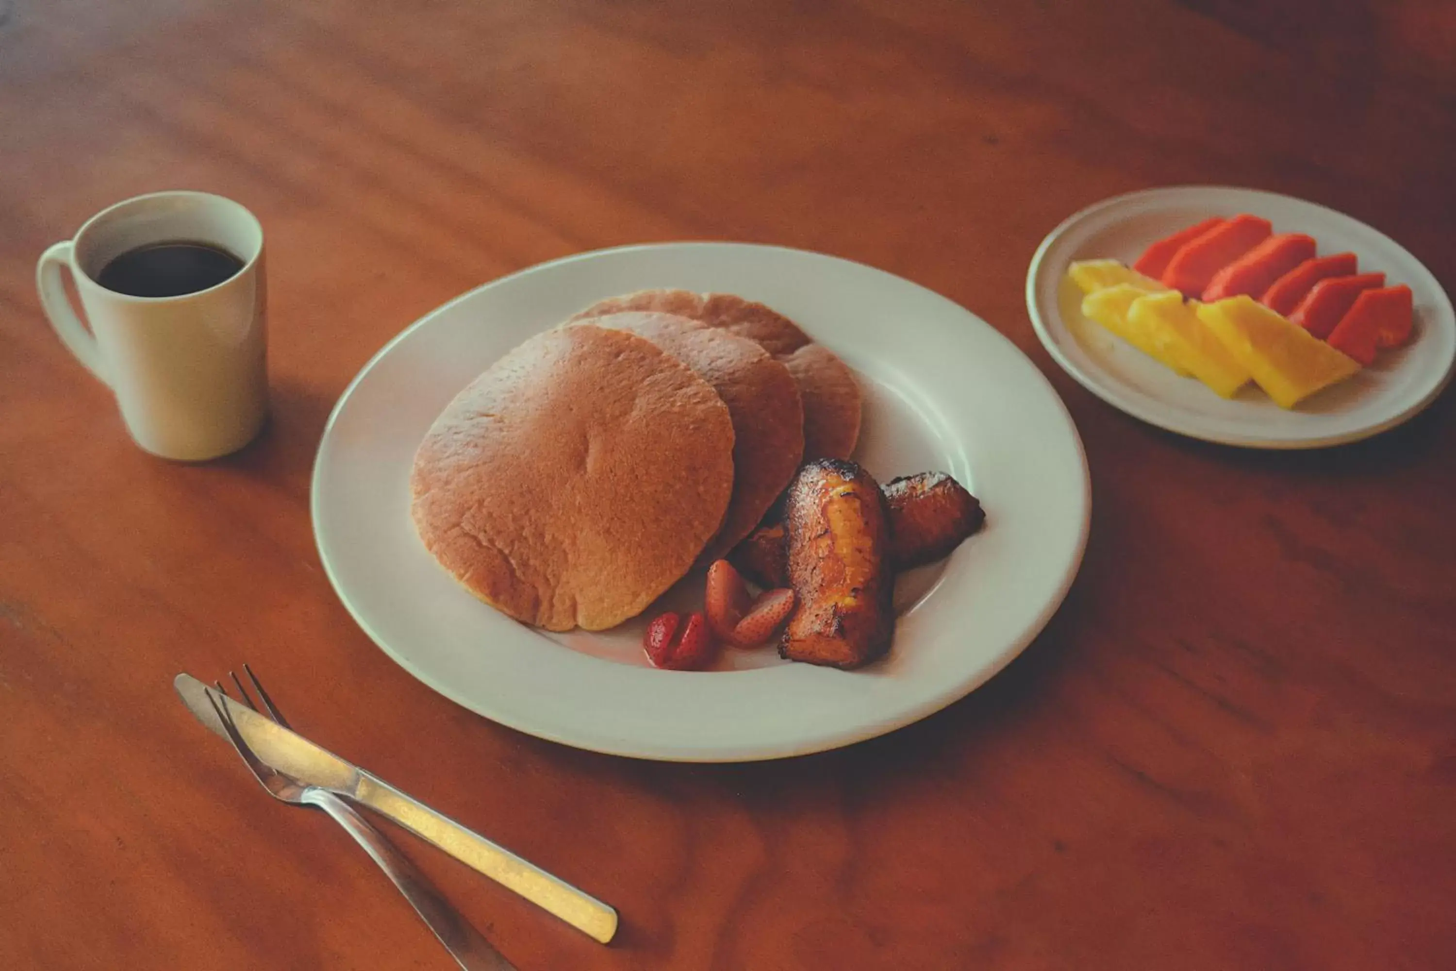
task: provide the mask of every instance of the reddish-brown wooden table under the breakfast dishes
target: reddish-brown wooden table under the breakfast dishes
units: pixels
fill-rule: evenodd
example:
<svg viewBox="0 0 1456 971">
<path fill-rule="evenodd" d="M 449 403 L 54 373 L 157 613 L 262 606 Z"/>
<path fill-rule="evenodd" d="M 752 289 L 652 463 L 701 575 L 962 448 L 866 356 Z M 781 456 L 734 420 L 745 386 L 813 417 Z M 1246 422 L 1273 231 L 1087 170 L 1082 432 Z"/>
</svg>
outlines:
<svg viewBox="0 0 1456 971">
<path fill-rule="evenodd" d="M 447 967 L 176 703 L 243 659 L 620 908 L 601 948 L 402 837 L 523 971 L 1456 967 L 1452 396 L 1345 448 L 1206 445 L 1083 392 L 1022 303 L 1064 215 L 1184 182 L 1337 207 L 1456 284 L 1456 12 L 1254 6 L 0 3 L 0 967 Z M 275 418 L 210 464 L 137 450 L 33 293 L 45 245 L 162 188 L 269 236 Z M 390 335 L 700 237 L 948 294 L 1086 441 L 1061 611 L 891 737 L 748 766 L 537 741 L 414 681 L 320 571 L 313 450 Z"/>
</svg>

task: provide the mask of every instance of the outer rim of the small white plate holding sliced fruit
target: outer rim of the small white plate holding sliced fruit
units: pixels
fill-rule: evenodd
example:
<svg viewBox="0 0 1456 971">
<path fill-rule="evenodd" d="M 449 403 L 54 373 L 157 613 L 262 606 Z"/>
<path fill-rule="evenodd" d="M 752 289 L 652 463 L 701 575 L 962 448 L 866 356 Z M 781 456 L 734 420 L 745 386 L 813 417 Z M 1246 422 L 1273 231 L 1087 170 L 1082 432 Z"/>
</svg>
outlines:
<svg viewBox="0 0 1456 971">
<path fill-rule="evenodd" d="M 1380 243 L 1393 247 L 1402 256 L 1405 256 L 1412 263 L 1420 266 L 1421 271 L 1434 284 L 1436 293 L 1441 298 L 1441 306 L 1437 310 L 1444 313 L 1446 320 L 1456 320 L 1456 309 L 1452 307 L 1450 296 L 1446 293 L 1446 288 L 1441 287 L 1441 282 L 1436 277 L 1436 274 L 1433 274 L 1425 263 L 1423 263 L 1414 253 L 1411 253 L 1411 250 L 1401 246 L 1401 243 L 1398 243 L 1390 236 L 1386 236 L 1385 233 L 1374 229 L 1369 223 L 1358 220 L 1347 213 L 1341 213 L 1337 208 L 1324 205 L 1321 202 L 1302 199 L 1296 195 L 1287 195 L 1283 192 L 1271 192 L 1268 189 L 1255 189 L 1251 186 L 1238 186 L 1238 185 L 1185 183 L 1185 185 L 1153 186 L 1147 189 L 1134 189 L 1131 192 L 1121 192 L 1118 195 L 1112 195 L 1099 199 L 1096 202 L 1092 202 L 1091 205 L 1085 205 L 1083 208 L 1077 210 L 1072 215 L 1061 220 L 1050 233 L 1047 233 L 1047 236 L 1037 246 L 1037 252 L 1032 255 L 1031 263 L 1026 268 L 1025 294 L 1026 294 L 1026 313 L 1031 316 L 1031 326 L 1037 332 L 1037 338 L 1041 341 L 1042 348 L 1045 348 L 1047 354 L 1051 355 L 1051 360 L 1056 361 L 1063 371 L 1072 376 L 1072 379 L 1076 380 L 1077 384 L 1092 392 L 1092 395 L 1099 397 L 1102 402 L 1111 405 L 1112 408 L 1118 409 L 1120 412 L 1130 415 L 1147 425 L 1153 425 L 1156 428 L 1162 428 L 1163 431 L 1174 432 L 1175 435 L 1184 435 L 1185 438 L 1195 438 L 1198 441 L 1210 441 L 1220 445 L 1232 445 L 1236 448 L 1259 448 L 1259 450 L 1274 450 L 1274 451 L 1331 448 L 1335 445 L 1345 445 L 1354 441 L 1361 441 L 1364 438 L 1379 435 L 1382 432 L 1390 431 L 1398 425 L 1408 422 L 1409 419 L 1415 418 L 1418 413 L 1425 411 L 1431 405 L 1431 402 L 1440 397 L 1441 392 L 1444 392 L 1447 384 L 1450 384 L 1453 373 L 1456 373 L 1456 352 L 1447 357 L 1441 377 L 1431 386 L 1431 389 L 1424 396 L 1421 396 L 1414 403 L 1408 405 L 1406 408 L 1395 412 L 1393 415 L 1382 421 L 1372 422 L 1369 425 L 1363 425 L 1351 431 L 1328 434 L 1328 435 L 1302 435 L 1302 437 L 1239 435 L 1239 434 L 1220 434 L 1214 431 L 1206 431 L 1201 429 L 1197 422 L 1187 422 L 1174 412 L 1162 412 L 1159 409 L 1146 408 L 1136 397 L 1123 395 L 1118 386 L 1115 384 L 1109 386 L 1101 381 L 1095 374 L 1089 374 L 1088 371 L 1085 371 L 1070 355 L 1067 355 L 1063 351 L 1061 344 L 1051 333 L 1051 328 L 1047 323 L 1047 316 L 1056 316 L 1057 320 L 1061 319 L 1060 309 L 1050 307 L 1044 314 L 1041 307 L 1041 300 L 1038 298 L 1037 294 L 1037 284 L 1042 274 L 1042 263 L 1045 263 L 1047 256 L 1051 252 L 1051 247 L 1056 246 L 1057 242 L 1060 242 L 1060 239 L 1067 231 L 1070 231 L 1077 224 L 1086 221 L 1088 218 L 1096 215 L 1104 210 L 1114 208 L 1118 205 L 1125 205 L 1128 202 L 1146 198 L 1158 198 L 1158 197 L 1176 198 L 1179 195 L 1190 195 L 1195 192 L 1242 192 L 1248 195 L 1262 195 L 1273 199 L 1280 199 L 1283 202 L 1296 202 L 1299 205 L 1322 210 L 1324 213 L 1335 215 L 1341 220 L 1348 220 L 1357 224 L 1361 230 L 1370 233 Z M 1066 322 L 1063 322 L 1063 329 L 1067 329 Z"/>
</svg>

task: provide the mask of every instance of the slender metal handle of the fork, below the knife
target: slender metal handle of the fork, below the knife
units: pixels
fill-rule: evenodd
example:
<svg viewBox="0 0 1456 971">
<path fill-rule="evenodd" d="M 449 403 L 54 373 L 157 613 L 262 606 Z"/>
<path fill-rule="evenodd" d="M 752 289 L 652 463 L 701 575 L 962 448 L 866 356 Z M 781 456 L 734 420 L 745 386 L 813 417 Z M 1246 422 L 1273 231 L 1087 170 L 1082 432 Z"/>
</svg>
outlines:
<svg viewBox="0 0 1456 971">
<path fill-rule="evenodd" d="M 470 922 L 409 862 L 409 857 L 395 849 L 395 844 L 360 815 L 358 809 L 323 789 L 307 789 L 303 799 L 333 817 L 333 821 L 364 847 L 370 857 L 379 863 L 379 868 L 395 881 L 399 892 L 405 895 L 425 926 L 440 938 L 440 943 L 464 971 L 517 971 L 515 965 L 482 938 L 470 926 Z"/>
</svg>

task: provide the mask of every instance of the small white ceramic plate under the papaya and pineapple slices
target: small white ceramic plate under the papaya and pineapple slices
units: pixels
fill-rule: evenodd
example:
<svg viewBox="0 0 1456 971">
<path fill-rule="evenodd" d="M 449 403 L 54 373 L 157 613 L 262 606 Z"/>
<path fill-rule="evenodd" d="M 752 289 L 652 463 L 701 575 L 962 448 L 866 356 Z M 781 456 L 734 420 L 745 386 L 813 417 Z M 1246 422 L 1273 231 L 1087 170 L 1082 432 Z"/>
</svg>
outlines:
<svg viewBox="0 0 1456 971">
<path fill-rule="evenodd" d="M 1415 336 L 1382 351 L 1356 377 L 1284 411 L 1252 384 L 1224 400 L 1082 316 L 1066 280 L 1076 259 L 1131 263 L 1149 243 L 1210 215 L 1252 213 L 1275 233 L 1307 233 L 1321 253 L 1353 252 L 1360 271 L 1382 271 L 1415 294 Z M 1054 229 L 1026 272 L 1026 309 L 1051 357 L 1089 392 L 1144 422 L 1192 438 L 1252 448 L 1316 448 L 1374 435 L 1411 418 L 1450 380 L 1456 358 L 1452 301 L 1399 243 L 1348 215 L 1274 192 L 1176 186 L 1120 195 Z"/>
</svg>

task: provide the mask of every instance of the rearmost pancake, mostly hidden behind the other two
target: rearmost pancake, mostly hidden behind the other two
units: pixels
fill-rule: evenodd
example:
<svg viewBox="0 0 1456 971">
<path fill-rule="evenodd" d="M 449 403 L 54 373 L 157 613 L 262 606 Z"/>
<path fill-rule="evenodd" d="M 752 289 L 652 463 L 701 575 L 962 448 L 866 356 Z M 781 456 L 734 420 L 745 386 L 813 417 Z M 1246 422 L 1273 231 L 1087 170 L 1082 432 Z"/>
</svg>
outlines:
<svg viewBox="0 0 1456 971">
<path fill-rule="evenodd" d="M 804 459 L 847 459 L 859 441 L 860 390 L 853 371 L 783 314 L 734 294 L 639 290 L 600 300 L 571 320 L 629 310 L 674 313 L 756 341 L 788 365 L 804 403 Z M 805 348 L 818 348 L 795 355 Z"/>
</svg>

